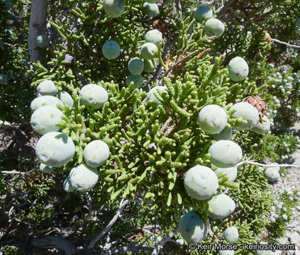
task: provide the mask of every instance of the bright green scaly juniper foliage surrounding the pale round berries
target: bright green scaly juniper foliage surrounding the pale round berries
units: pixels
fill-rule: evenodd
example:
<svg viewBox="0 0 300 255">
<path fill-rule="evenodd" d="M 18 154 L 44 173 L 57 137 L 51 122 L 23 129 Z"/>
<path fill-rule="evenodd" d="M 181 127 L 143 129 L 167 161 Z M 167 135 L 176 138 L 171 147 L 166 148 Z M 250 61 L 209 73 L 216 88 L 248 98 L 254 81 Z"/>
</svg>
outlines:
<svg viewBox="0 0 300 255">
<path fill-rule="evenodd" d="M 138 244 L 135 249 L 142 254 L 143 250 L 149 251 L 158 243 L 155 243 L 157 235 L 170 234 L 184 212 L 193 209 L 204 219 L 209 218 L 209 203 L 188 196 L 183 183 L 184 174 L 192 166 L 211 166 L 208 149 L 215 141 L 212 135 L 199 128 L 199 111 L 209 104 L 221 106 L 228 115 L 226 128 L 230 128 L 245 123 L 241 118 L 233 118 L 233 112 L 228 110 L 246 96 L 263 96 L 274 116 L 277 115 L 274 111 L 277 111 L 284 118 L 291 114 L 296 118 L 299 107 L 299 98 L 294 96 L 299 83 L 293 87 L 290 96 L 272 88 L 273 79 L 268 79 L 268 76 L 275 73 L 275 69 L 267 62 L 282 51 L 274 47 L 265 33 L 270 23 L 276 21 L 280 24 L 279 29 L 284 28 L 284 35 L 287 35 L 278 39 L 295 36 L 291 21 L 294 22 L 299 14 L 296 8 L 290 11 L 288 18 L 282 14 L 274 18 L 270 15 L 278 13 L 282 6 L 295 6 L 296 1 L 235 2 L 236 5 L 231 6 L 221 6 L 219 1 L 211 5 L 215 17 L 226 23 L 226 32 L 221 38 L 207 38 L 205 21 L 197 23 L 191 11 L 199 5 L 197 1 L 160 1 L 160 16 L 157 18 L 145 16 L 144 1 L 141 0 L 126 1 L 125 11 L 119 18 L 107 16 L 102 1 L 49 1 L 48 47 L 37 49 L 45 62 L 32 63 L 33 69 L 28 71 L 28 77 L 33 91 L 41 81 L 50 79 L 58 91 L 72 95 L 73 107 L 57 106 L 64 113 L 57 125 L 61 132 L 72 138 L 76 153 L 70 163 L 50 176 L 38 172 L 40 163 L 36 161 L 34 174 L 16 177 L 11 183 L 1 186 L 1 194 L 10 191 L 11 196 L 16 196 L 13 187 L 26 190 L 17 202 L 33 205 L 13 211 L 16 215 L 13 225 L 16 221 L 22 222 L 16 227 L 18 231 L 25 227 L 35 236 L 38 230 L 48 227 L 73 229 L 68 232 L 69 237 L 81 239 L 78 246 L 84 247 L 85 251 L 89 241 L 109 224 L 121 201 L 129 199 L 123 220 L 116 222 L 111 229 L 110 237 L 114 243 L 110 245 L 113 245 L 112 249 L 132 246 L 131 240 L 135 239 Z M 217 12 L 218 8 L 221 11 Z M 259 17 L 256 20 L 254 14 L 248 16 L 253 8 Z M 25 13 L 23 18 L 27 18 Z M 285 26 L 287 23 L 289 26 Z M 145 33 L 152 28 L 158 28 L 164 38 L 155 58 L 157 69 L 152 74 L 143 74 L 143 86 L 133 89 L 133 83 L 126 86 L 127 64 L 131 58 L 140 57 Z M 267 31 L 271 36 L 277 35 Z M 116 60 L 107 60 L 101 52 L 107 40 L 115 40 L 121 47 Z M 250 76 L 244 81 L 234 82 L 228 78 L 227 64 L 235 56 L 243 56 L 249 64 Z M 10 60 L 15 58 L 14 55 L 7 57 Z M 257 67 L 258 60 L 260 65 Z M 296 77 L 293 72 L 296 71 L 284 74 L 282 79 L 291 75 Z M 26 77 L 26 74 L 22 76 Z M 79 91 L 86 84 L 98 84 L 108 91 L 109 101 L 102 108 L 95 110 L 81 103 Z M 158 106 L 145 100 L 147 91 L 157 85 L 167 88 L 165 92 L 154 93 L 161 102 Z M 280 101 L 286 96 L 288 100 L 278 106 L 272 97 L 274 94 L 280 94 Z M 287 103 L 293 105 L 289 110 Z M 287 126 L 293 122 L 284 120 Z M 282 144 L 282 141 L 287 141 L 287 136 L 291 136 L 284 132 L 289 131 L 276 126 L 271 134 L 264 136 L 249 130 L 239 131 L 234 132 L 233 140 L 243 148 L 245 156 L 253 155 L 257 161 L 279 161 L 296 149 L 295 137 L 289 138 L 289 152 Z M 65 193 L 63 180 L 70 169 L 84 163 L 84 147 L 92 140 L 103 140 L 111 151 L 109 160 L 98 169 L 99 182 L 88 193 Z M 272 147 L 271 142 L 277 147 Z M 0 178 L 6 180 L 2 175 Z M 228 193 L 237 207 L 225 220 L 210 219 L 211 233 L 204 243 L 225 243 L 223 232 L 233 225 L 239 230 L 238 245 L 262 239 L 276 242 L 275 238 L 282 236 L 285 221 L 270 222 L 274 197 L 270 194 L 270 184 L 257 166 L 239 166 L 235 182 L 218 174 L 218 183 L 218 191 Z M 288 217 L 297 203 L 296 196 L 293 198 L 287 203 Z M 101 211 L 103 208 L 106 208 L 105 212 Z M 64 220 L 59 219 L 57 213 L 65 214 Z M 4 222 L 8 224 L 8 219 Z M 151 234 L 143 232 L 146 225 L 155 226 Z M 262 237 L 266 229 L 270 231 L 267 238 Z M 5 237 L 11 236 L 6 234 Z M 27 238 L 25 234 L 21 237 L 23 240 Z M 181 239 L 180 234 L 176 237 Z M 100 240 L 94 249 L 105 253 L 106 241 Z M 178 246 L 169 245 L 165 249 L 170 254 L 183 254 L 186 246 L 178 249 Z M 13 254 L 8 247 L 3 251 L 6 250 Z M 203 254 L 217 254 L 217 251 L 203 251 Z M 249 253 L 239 249 L 236 254 Z"/>
</svg>

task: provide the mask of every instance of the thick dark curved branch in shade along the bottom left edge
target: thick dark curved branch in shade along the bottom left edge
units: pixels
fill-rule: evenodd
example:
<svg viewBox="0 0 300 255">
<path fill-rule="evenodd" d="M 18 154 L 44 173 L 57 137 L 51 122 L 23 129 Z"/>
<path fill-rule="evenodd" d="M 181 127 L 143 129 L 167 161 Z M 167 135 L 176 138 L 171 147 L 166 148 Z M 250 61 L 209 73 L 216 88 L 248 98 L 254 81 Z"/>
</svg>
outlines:
<svg viewBox="0 0 300 255">
<path fill-rule="evenodd" d="M 65 251 L 67 255 L 78 254 L 77 248 L 67 239 L 62 237 L 44 237 L 40 239 L 31 239 L 30 246 L 35 248 L 57 247 Z"/>
</svg>

